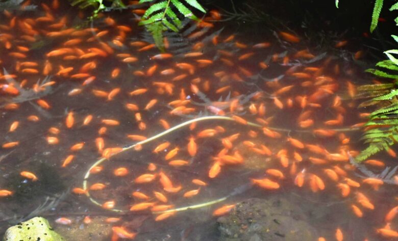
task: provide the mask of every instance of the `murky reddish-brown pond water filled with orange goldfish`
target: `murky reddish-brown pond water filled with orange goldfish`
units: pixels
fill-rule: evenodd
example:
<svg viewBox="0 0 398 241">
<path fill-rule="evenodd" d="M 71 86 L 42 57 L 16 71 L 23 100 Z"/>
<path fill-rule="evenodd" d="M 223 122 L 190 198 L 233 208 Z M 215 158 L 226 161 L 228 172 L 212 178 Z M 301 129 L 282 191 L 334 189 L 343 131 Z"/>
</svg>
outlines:
<svg viewBox="0 0 398 241">
<path fill-rule="evenodd" d="M 229 3 L 208 4 L 228 12 L 247 8 Z M 316 9 L 312 1 L 304 3 L 310 6 L 306 12 Z M 344 240 L 383 240 L 376 229 L 386 225 L 385 215 L 397 202 L 394 158 L 387 153 L 375 156 L 384 167 L 350 162 L 350 156 L 365 147 L 355 125 L 366 120 L 361 113 L 369 112 L 357 109 L 361 100 L 354 98 L 355 87 L 371 83 L 374 77 L 363 70 L 389 44 L 381 34 L 363 37 L 368 26 L 363 20 L 355 18 L 356 29 L 344 31 L 338 20 L 331 21 L 335 10 L 308 15 L 327 23 L 322 28 L 311 19 L 298 19 L 306 12 L 292 15 L 294 4 L 281 9 L 269 3 L 268 10 L 257 12 L 270 17 L 269 25 L 228 13 L 219 21 L 210 19 L 211 28 L 187 23 L 181 34 L 165 34 L 171 56 L 159 56 L 156 47 L 148 47 L 151 36 L 137 26 L 134 14 L 141 6 L 107 12 L 90 22 L 67 5 L 53 9 L 48 3 L 45 11 L 40 3 L 32 4 L 37 5 L 34 11 L 10 9 L 0 17 L 0 190 L 12 192 L 0 198 L 0 232 L 43 216 L 68 240 L 111 240 L 112 226 L 137 232 L 135 240 L 252 240 L 243 238 L 245 225 L 221 227 L 230 225 L 228 216 L 220 220 L 213 212 L 258 198 L 288 203 L 300 215 L 275 208 L 276 216 L 297 215 L 311 227 L 311 240 L 335 240 L 337 228 Z M 253 2 L 252 8 L 256 6 L 265 9 Z M 347 12 L 341 13 L 344 19 L 349 18 Z M 363 12 L 370 19 L 370 13 Z M 303 28 L 303 23 L 312 25 Z M 202 119 L 118 153 L 197 118 Z M 188 144 L 192 140 L 197 145 L 194 154 Z M 166 142 L 169 145 L 155 153 Z M 166 157 L 175 148 L 178 153 Z M 101 171 L 88 175 L 102 156 L 108 159 L 96 165 Z M 274 169 L 284 177 L 269 171 Z M 115 170 L 126 175 L 115 175 Z M 153 175 L 153 180 L 138 183 L 143 174 Z M 176 191 L 167 189 L 163 174 Z M 300 177 L 303 186 L 297 184 Z M 377 188 L 363 182 L 368 177 L 385 183 Z M 261 188 L 253 179 L 271 184 Z M 105 188 L 88 190 L 95 183 Z M 344 193 L 347 186 L 349 193 Z M 184 197 L 193 190 L 197 195 Z M 152 204 L 129 210 L 141 202 Z M 150 209 L 161 204 L 172 205 L 166 210 L 172 216 L 156 221 L 162 211 Z M 71 224 L 56 222 L 61 217 Z M 108 218 L 120 220 L 111 223 Z M 391 228 L 396 225 L 392 220 Z M 287 235 L 270 232 L 269 240 L 285 240 Z"/>
</svg>

